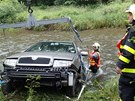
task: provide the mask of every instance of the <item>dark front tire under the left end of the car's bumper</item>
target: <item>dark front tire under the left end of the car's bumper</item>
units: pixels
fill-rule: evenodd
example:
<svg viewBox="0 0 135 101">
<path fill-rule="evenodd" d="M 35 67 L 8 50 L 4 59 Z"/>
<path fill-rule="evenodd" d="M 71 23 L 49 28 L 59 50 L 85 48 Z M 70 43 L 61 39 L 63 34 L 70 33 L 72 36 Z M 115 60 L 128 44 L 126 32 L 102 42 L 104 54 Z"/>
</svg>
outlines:
<svg viewBox="0 0 135 101">
<path fill-rule="evenodd" d="M 1 84 L 1 90 L 4 95 L 8 95 L 14 91 L 11 81 Z"/>
</svg>

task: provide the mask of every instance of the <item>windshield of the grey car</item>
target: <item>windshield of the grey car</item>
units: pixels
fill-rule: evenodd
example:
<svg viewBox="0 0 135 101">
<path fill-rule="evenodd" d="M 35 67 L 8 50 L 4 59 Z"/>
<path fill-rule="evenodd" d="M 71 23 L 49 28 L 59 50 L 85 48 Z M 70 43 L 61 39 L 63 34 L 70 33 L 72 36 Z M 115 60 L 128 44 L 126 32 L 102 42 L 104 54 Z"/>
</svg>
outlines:
<svg viewBox="0 0 135 101">
<path fill-rule="evenodd" d="M 71 42 L 39 42 L 25 52 L 69 52 L 76 53 L 75 46 Z"/>
</svg>

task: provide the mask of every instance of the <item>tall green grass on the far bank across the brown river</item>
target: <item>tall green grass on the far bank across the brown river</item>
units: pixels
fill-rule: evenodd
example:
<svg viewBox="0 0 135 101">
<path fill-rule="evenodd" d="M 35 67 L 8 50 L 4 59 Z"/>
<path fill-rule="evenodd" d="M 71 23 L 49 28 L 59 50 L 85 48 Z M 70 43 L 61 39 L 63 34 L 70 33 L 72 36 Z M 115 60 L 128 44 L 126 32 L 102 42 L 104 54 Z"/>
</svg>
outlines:
<svg viewBox="0 0 135 101">
<path fill-rule="evenodd" d="M 36 19 L 51 19 L 59 17 L 70 16 L 78 30 L 108 28 L 108 27 L 125 27 L 126 22 L 126 8 L 131 4 L 131 1 L 116 0 L 109 4 L 99 4 L 94 6 L 76 7 L 76 6 L 49 6 L 49 7 L 32 7 L 33 14 Z M 18 12 L 14 15 L 14 22 L 26 21 L 28 18 L 27 9 Z M 7 19 L 8 20 L 8 19 Z M 51 27 L 52 26 L 52 27 Z M 64 24 L 49 25 L 46 28 L 52 29 L 66 29 Z M 45 27 L 38 27 L 44 30 Z"/>
</svg>

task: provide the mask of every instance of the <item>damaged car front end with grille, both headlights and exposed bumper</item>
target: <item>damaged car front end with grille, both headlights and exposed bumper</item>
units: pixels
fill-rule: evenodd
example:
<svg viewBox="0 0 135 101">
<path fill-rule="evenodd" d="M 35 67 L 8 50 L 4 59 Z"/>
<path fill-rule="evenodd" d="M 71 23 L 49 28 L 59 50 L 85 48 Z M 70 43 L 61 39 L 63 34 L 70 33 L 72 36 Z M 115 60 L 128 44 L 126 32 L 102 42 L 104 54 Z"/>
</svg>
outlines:
<svg viewBox="0 0 135 101">
<path fill-rule="evenodd" d="M 71 86 L 71 76 L 76 72 L 72 68 L 72 60 L 37 55 L 8 58 L 3 65 L 3 74 L 14 81 L 25 81 L 30 76 L 39 76 L 40 84 L 46 86 Z"/>
</svg>

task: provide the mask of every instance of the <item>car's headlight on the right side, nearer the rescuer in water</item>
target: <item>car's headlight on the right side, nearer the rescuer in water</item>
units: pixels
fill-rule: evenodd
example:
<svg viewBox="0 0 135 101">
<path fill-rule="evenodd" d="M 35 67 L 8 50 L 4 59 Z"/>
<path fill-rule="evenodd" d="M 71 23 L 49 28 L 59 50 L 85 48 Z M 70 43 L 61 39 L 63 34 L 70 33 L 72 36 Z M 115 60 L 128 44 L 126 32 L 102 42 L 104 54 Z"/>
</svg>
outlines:
<svg viewBox="0 0 135 101">
<path fill-rule="evenodd" d="M 68 67 L 71 65 L 71 61 L 54 60 L 53 67 Z"/>
</svg>

